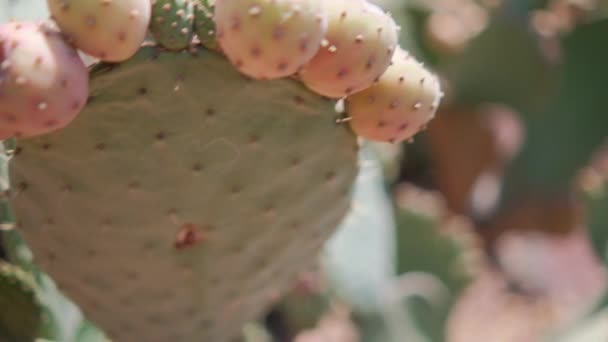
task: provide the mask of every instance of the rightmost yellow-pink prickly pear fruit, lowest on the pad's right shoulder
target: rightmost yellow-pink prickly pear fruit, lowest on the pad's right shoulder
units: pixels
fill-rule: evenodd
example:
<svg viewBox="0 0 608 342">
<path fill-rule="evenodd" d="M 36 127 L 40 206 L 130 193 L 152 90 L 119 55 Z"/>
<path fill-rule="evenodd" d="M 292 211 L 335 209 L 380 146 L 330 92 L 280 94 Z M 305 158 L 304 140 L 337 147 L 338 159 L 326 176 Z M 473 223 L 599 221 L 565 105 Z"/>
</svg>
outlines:
<svg viewBox="0 0 608 342">
<path fill-rule="evenodd" d="M 399 142 L 435 116 L 442 92 L 437 76 L 398 49 L 377 83 L 346 98 L 353 131 L 366 139 Z"/>
</svg>

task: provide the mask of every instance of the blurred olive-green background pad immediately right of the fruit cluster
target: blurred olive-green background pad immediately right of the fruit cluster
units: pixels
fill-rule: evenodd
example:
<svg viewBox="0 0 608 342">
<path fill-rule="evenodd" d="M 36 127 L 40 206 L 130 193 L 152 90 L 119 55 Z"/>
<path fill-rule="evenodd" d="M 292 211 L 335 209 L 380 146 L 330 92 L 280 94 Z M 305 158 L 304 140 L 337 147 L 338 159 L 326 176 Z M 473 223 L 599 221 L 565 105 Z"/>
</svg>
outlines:
<svg viewBox="0 0 608 342">
<path fill-rule="evenodd" d="M 445 72 L 459 105 L 503 103 L 537 110 L 553 94 L 559 75 L 538 38 L 519 18 L 494 17 L 465 51 L 446 59 Z"/>
</svg>

